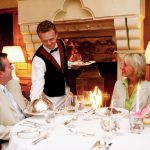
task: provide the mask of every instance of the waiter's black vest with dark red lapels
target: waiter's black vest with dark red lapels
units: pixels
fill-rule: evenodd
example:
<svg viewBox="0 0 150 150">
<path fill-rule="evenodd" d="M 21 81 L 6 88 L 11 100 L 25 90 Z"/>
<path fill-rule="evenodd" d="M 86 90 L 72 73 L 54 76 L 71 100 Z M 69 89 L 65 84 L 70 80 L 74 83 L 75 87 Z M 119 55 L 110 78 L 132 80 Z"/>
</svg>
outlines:
<svg viewBox="0 0 150 150">
<path fill-rule="evenodd" d="M 65 95 L 65 83 L 68 83 L 68 65 L 65 46 L 61 40 L 57 40 L 58 49 L 60 52 L 61 67 L 55 61 L 53 56 L 48 53 L 43 46 L 39 47 L 34 56 L 38 56 L 45 62 L 45 85 L 44 93 L 47 96 L 63 96 Z M 66 81 L 66 82 L 65 82 Z"/>
</svg>

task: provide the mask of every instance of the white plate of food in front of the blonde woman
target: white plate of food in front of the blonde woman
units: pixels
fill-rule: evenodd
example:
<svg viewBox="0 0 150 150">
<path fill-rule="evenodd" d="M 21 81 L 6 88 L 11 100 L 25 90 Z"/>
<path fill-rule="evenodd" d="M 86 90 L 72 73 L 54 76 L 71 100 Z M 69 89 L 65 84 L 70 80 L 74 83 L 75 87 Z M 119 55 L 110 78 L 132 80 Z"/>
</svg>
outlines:
<svg viewBox="0 0 150 150">
<path fill-rule="evenodd" d="M 108 108 L 109 107 L 102 107 L 102 108 L 96 109 L 95 114 L 101 117 L 105 117 L 108 115 L 108 111 L 109 111 Z M 113 109 L 115 109 L 116 113 L 113 113 L 113 111 L 111 110 L 110 110 L 110 113 L 112 113 L 112 116 L 118 120 L 122 119 L 125 115 L 129 113 L 129 111 L 124 108 L 115 107 Z"/>
</svg>

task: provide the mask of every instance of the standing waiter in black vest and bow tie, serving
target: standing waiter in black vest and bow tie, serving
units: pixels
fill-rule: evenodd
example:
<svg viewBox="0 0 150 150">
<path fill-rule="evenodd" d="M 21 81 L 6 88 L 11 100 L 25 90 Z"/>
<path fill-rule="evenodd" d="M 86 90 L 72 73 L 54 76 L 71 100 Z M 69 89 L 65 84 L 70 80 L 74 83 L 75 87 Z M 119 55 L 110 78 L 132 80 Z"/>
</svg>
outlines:
<svg viewBox="0 0 150 150">
<path fill-rule="evenodd" d="M 30 99 L 32 101 L 45 96 L 56 108 L 63 108 L 71 102 L 64 43 L 57 40 L 56 27 L 48 20 L 38 24 L 37 34 L 42 45 L 32 60 Z"/>
</svg>

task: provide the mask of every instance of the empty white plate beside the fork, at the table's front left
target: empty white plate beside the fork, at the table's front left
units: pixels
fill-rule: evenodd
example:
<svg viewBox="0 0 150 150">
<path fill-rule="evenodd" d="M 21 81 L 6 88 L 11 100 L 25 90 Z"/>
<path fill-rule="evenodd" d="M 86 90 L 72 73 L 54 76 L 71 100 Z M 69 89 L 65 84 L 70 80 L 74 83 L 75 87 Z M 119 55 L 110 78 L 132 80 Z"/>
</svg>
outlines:
<svg viewBox="0 0 150 150">
<path fill-rule="evenodd" d="M 40 131 L 38 130 L 22 130 L 17 132 L 17 136 L 24 139 L 31 139 L 38 137 L 40 135 Z"/>
</svg>

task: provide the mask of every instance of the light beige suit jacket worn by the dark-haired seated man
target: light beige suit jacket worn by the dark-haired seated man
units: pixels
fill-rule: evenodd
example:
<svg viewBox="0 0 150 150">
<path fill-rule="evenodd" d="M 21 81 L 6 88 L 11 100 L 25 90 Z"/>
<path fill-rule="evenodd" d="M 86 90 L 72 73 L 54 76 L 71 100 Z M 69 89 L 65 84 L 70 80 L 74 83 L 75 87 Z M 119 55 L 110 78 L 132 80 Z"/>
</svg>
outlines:
<svg viewBox="0 0 150 150">
<path fill-rule="evenodd" d="M 22 95 L 21 87 L 16 80 L 10 80 L 7 89 L 13 95 L 17 104 L 23 110 L 25 108 L 25 98 Z M 9 140 L 9 131 L 13 125 L 19 121 L 16 110 L 9 102 L 2 90 L 0 90 L 0 139 Z"/>
</svg>

